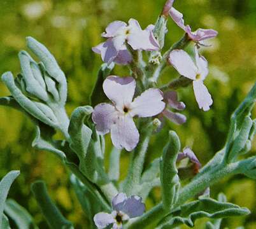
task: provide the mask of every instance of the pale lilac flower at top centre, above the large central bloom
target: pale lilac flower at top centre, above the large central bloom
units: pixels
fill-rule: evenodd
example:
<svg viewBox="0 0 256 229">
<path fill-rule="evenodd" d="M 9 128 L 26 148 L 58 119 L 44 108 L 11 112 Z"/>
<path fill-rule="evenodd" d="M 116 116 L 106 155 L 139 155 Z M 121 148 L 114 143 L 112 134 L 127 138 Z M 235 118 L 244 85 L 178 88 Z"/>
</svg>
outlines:
<svg viewBox="0 0 256 229">
<path fill-rule="evenodd" d="M 127 50 L 125 42 L 127 42 L 133 50 L 156 51 L 159 50 L 159 43 L 153 36 L 152 25 L 143 30 L 139 22 L 135 19 L 130 19 L 128 25 L 122 21 L 111 22 L 106 27 L 106 32 L 102 36 L 108 38 L 104 43 L 101 43 L 92 50 L 101 54 L 104 62 L 110 64 L 129 64 L 132 57 Z"/>
</svg>

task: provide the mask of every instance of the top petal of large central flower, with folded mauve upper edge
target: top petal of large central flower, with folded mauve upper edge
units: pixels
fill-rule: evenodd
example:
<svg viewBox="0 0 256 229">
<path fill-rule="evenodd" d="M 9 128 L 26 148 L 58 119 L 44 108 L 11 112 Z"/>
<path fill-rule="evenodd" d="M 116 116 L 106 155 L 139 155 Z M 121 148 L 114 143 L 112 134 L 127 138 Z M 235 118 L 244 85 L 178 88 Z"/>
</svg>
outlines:
<svg viewBox="0 0 256 229">
<path fill-rule="evenodd" d="M 120 110 L 132 102 L 135 87 L 132 77 L 108 76 L 103 83 L 104 93 Z"/>
</svg>

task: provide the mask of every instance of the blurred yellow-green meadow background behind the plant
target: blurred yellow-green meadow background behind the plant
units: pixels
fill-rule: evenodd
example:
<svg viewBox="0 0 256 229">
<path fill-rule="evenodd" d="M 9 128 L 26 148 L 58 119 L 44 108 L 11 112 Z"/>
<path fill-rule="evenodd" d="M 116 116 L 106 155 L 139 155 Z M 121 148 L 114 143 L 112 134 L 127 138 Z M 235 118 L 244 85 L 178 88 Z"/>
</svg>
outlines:
<svg viewBox="0 0 256 229">
<path fill-rule="evenodd" d="M 96 81 L 101 58 L 91 47 L 103 39 L 100 34 L 113 20 L 139 20 L 144 28 L 155 22 L 165 0 L 1 0 L 0 1 L 0 74 L 4 71 L 19 73 L 17 54 L 25 49 L 25 37 L 32 36 L 44 43 L 59 62 L 68 79 L 67 110 L 71 114 L 77 106 L 88 104 L 90 90 Z M 152 138 L 149 163 L 160 156 L 169 128 L 180 135 L 182 146 L 193 148 L 204 164 L 222 148 L 229 128 L 229 117 L 252 87 L 256 74 L 256 1 L 255 0 L 187 0 L 176 1 L 175 6 L 185 15 L 185 22 L 219 32 L 211 39 L 209 48 L 201 52 L 210 63 L 206 85 L 214 104 L 204 113 L 197 107 L 192 88 L 179 90 L 185 102 L 188 121 L 182 126 L 167 123 Z M 183 32 L 169 20 L 166 48 L 179 39 Z M 114 74 L 129 74 L 125 67 L 116 67 Z M 176 77 L 169 67 L 160 83 Z M 0 83 L 0 95 L 9 95 Z M 10 197 L 23 205 L 34 216 L 40 228 L 48 228 L 31 195 L 30 185 L 44 179 L 50 195 L 63 214 L 75 223 L 75 228 L 87 228 L 85 216 L 71 190 L 64 167 L 55 156 L 31 148 L 34 127 L 22 113 L 10 108 L 0 108 L 0 177 L 11 169 L 20 169 L 21 175 L 13 184 Z M 254 110 L 255 116 L 255 110 Z M 109 143 L 109 136 L 108 146 Z M 255 155 L 253 144 L 251 155 Z M 122 154 L 122 168 L 127 168 L 129 153 Z M 107 163 L 106 163 L 107 166 Z M 124 178 L 126 169 L 121 172 Z M 256 228 L 256 183 L 244 176 L 224 179 L 211 188 L 211 197 L 223 191 L 229 200 L 248 207 L 252 214 L 242 218 L 225 219 L 223 228 Z M 147 207 L 159 200 L 160 190 L 150 195 Z M 206 220 L 196 223 L 203 228 Z"/>
</svg>

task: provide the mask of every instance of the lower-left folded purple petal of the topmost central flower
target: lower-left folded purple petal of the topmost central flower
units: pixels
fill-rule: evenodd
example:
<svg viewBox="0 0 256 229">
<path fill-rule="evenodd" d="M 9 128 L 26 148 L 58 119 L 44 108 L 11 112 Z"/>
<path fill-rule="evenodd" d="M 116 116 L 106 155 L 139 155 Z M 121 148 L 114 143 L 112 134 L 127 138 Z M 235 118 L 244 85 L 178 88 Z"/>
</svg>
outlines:
<svg viewBox="0 0 256 229">
<path fill-rule="evenodd" d="M 101 59 L 108 64 L 110 64 L 118 55 L 117 49 L 115 48 L 111 38 L 104 43 L 93 47 L 92 51 L 101 54 Z"/>
</svg>

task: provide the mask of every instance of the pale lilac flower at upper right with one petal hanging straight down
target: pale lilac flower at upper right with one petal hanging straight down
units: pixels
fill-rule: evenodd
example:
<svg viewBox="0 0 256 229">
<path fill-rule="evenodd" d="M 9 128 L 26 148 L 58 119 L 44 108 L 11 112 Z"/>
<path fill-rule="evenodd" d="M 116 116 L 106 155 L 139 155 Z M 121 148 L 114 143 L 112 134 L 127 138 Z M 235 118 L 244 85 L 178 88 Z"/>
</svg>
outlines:
<svg viewBox="0 0 256 229">
<path fill-rule="evenodd" d="M 183 50 L 173 50 L 169 54 L 169 62 L 173 67 L 186 78 L 193 80 L 194 94 L 196 96 L 199 108 L 204 111 L 210 109 L 213 100 L 204 85 L 204 79 L 208 75 L 208 62 L 203 56 L 199 56 L 197 47 L 195 46 L 196 64 Z"/>
</svg>

